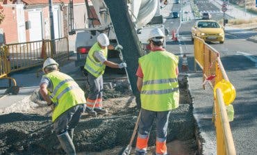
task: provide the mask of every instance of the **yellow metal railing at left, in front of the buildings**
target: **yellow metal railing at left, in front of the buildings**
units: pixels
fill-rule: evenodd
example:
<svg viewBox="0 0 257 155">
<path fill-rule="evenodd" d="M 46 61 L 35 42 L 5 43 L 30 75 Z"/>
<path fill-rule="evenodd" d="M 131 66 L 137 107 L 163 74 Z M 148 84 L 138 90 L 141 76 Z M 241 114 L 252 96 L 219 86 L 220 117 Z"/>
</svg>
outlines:
<svg viewBox="0 0 257 155">
<path fill-rule="evenodd" d="M 0 50 L 0 79 L 12 79 L 13 85 L 16 85 L 15 79 L 8 77 L 11 72 L 38 67 L 47 58 L 53 58 L 60 64 L 63 64 L 65 59 L 69 60 L 68 39 L 5 44 Z"/>
</svg>

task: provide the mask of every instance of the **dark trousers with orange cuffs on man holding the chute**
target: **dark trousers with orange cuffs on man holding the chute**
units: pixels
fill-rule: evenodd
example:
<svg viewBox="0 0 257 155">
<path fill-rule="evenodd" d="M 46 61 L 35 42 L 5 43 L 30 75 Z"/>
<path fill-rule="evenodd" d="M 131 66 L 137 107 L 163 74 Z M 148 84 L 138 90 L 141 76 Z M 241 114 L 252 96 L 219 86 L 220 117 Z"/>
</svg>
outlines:
<svg viewBox="0 0 257 155">
<path fill-rule="evenodd" d="M 96 78 L 88 72 L 88 85 L 90 92 L 87 98 L 87 107 L 102 108 L 102 97 L 103 97 L 103 76 Z"/>
</svg>

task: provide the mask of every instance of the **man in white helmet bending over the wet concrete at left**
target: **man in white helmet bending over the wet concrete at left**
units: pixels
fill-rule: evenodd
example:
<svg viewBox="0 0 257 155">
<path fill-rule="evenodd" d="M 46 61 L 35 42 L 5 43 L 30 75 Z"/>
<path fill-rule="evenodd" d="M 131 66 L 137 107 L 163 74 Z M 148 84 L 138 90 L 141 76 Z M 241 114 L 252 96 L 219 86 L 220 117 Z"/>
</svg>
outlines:
<svg viewBox="0 0 257 155">
<path fill-rule="evenodd" d="M 85 110 L 85 94 L 72 77 L 58 71 L 58 63 L 52 58 L 44 61 L 42 70 L 45 74 L 40 81 L 40 94 L 53 110 L 53 129 L 65 152 L 76 154 L 72 138 Z"/>
</svg>

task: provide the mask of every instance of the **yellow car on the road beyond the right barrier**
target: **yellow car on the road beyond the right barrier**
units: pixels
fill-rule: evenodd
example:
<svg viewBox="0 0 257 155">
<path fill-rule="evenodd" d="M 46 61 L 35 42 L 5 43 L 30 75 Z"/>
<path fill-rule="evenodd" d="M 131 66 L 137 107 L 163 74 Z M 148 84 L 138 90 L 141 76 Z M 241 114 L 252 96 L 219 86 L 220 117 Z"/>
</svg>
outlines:
<svg viewBox="0 0 257 155">
<path fill-rule="evenodd" d="M 224 43 L 224 27 L 214 20 L 199 20 L 192 27 L 192 40 L 197 36 L 204 41 L 218 41 Z"/>
</svg>

